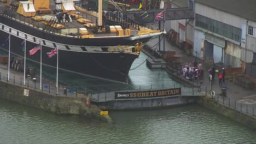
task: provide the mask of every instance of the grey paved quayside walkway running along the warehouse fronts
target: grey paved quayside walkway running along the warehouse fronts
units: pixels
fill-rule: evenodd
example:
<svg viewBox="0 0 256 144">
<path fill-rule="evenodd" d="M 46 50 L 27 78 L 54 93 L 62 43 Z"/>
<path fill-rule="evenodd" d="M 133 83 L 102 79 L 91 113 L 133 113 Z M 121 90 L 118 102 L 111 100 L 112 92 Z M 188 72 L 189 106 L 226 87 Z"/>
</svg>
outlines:
<svg viewBox="0 0 256 144">
<path fill-rule="evenodd" d="M 158 23 L 155 23 L 154 25 L 149 25 L 149 27 L 153 27 L 153 29 L 158 28 Z M 159 39 L 154 39 L 152 41 L 149 41 L 149 45 L 155 45 L 158 43 Z M 163 50 L 163 45 L 161 45 L 161 50 Z M 167 40 L 165 40 L 165 50 L 166 51 L 176 51 L 176 55 L 181 55 L 181 62 L 183 64 L 193 62 L 194 59 L 196 59 L 194 56 L 187 56 L 184 54 L 183 50 L 179 49 L 178 46 L 170 44 Z M 200 61 L 198 59 L 197 61 Z M 207 87 L 207 94 L 210 94 L 210 80 L 208 79 L 208 69 L 210 69 L 208 63 L 202 62 L 202 67 L 205 69 L 204 73 L 204 81 L 201 83 L 201 91 L 205 92 Z M 245 89 L 243 87 L 240 87 L 236 85 L 236 83 L 232 82 L 232 80 L 226 80 L 223 83 L 223 87 L 227 87 L 226 89 L 226 97 L 224 97 L 224 104 L 232 107 L 236 107 L 238 111 L 241 111 L 246 113 L 246 109 L 248 113 L 252 113 L 252 109 L 254 108 L 256 111 L 256 91 L 255 90 L 249 90 Z M 219 86 L 219 80 L 218 80 L 218 74 L 215 75 L 215 80 L 212 81 L 212 91 L 216 92 L 216 95 L 214 99 L 218 100 L 218 94 L 221 93 L 222 87 Z M 223 97 L 219 95 L 219 101 L 220 103 L 223 103 Z M 235 104 L 236 103 L 236 104 Z M 256 112 L 254 112 L 256 113 Z"/>
</svg>

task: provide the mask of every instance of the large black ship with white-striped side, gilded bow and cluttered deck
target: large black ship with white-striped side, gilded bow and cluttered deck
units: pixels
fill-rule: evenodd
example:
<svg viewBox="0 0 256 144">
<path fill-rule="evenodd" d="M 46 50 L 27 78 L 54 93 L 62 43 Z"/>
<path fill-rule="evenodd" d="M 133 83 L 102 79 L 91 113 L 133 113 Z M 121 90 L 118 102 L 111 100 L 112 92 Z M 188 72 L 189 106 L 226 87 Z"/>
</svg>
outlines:
<svg viewBox="0 0 256 144">
<path fill-rule="evenodd" d="M 42 64 L 49 67 L 56 68 L 57 59 L 49 58 L 46 53 L 58 46 L 59 69 L 100 79 L 127 82 L 131 65 L 139 56 L 139 47 L 147 43 L 150 38 L 162 34 L 161 31 L 139 32 L 118 26 L 104 26 L 103 23 L 95 26 L 97 27 L 95 32 L 95 27 L 90 28 L 90 25 L 87 25 L 86 29 L 86 24 L 71 19 L 72 15 L 72 18 L 87 15 L 83 14 L 83 11 L 74 10 L 73 1 L 65 1 L 69 3 L 68 7 L 72 7 L 69 11 L 64 10 L 65 13 L 63 13 L 64 1 L 49 2 L 46 4 L 47 8 L 36 7 L 38 5 L 36 2 L 40 1 L 0 2 L 0 44 L 5 43 L 10 37 L 10 53 L 24 57 L 24 51 L 20 46 L 22 41 L 26 40 L 26 59 L 37 63 L 40 63 L 40 52 L 30 56 L 29 51 L 41 44 Z M 43 5 L 42 2 L 40 4 Z M 48 13 L 51 12 L 51 7 L 47 5 L 52 9 L 55 8 L 55 14 L 59 14 L 57 18 L 55 14 Z M 44 9 L 50 11 L 44 13 Z M 59 17 L 61 20 L 58 19 Z M 98 21 L 102 21 L 100 17 Z M 81 19 L 87 20 L 84 17 L 79 20 Z M 67 26 L 69 27 L 65 28 Z M 115 32 L 111 32 L 113 27 Z M 83 32 L 84 35 L 81 34 Z M 1 46 L 1 49 L 9 51 L 9 46 Z"/>
</svg>

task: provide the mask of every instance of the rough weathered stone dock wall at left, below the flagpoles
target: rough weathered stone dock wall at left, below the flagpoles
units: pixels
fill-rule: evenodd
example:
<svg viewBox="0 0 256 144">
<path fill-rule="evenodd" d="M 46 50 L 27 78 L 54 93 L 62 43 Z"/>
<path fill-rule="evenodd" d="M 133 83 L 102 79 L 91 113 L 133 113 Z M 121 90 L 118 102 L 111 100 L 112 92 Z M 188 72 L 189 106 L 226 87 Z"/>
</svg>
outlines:
<svg viewBox="0 0 256 144">
<path fill-rule="evenodd" d="M 29 89 L 28 96 L 24 89 Z M 0 81 L 0 98 L 61 115 L 79 115 L 111 122 L 109 116 L 100 116 L 100 109 L 86 97 L 61 97 L 40 92 L 24 86 Z"/>
</svg>

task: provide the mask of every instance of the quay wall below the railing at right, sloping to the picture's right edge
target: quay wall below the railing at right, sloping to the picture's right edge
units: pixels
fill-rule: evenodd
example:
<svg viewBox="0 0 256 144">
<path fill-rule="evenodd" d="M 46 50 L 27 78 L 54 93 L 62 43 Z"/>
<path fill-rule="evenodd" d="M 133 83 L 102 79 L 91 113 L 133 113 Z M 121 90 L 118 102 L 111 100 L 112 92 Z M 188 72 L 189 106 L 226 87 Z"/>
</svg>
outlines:
<svg viewBox="0 0 256 144">
<path fill-rule="evenodd" d="M 251 116 L 246 115 L 245 113 L 231 109 L 228 106 L 219 104 L 218 102 L 213 101 L 211 98 L 201 97 L 199 98 L 199 100 L 197 100 L 197 103 L 204 107 L 207 107 L 208 109 L 221 113 L 227 116 L 228 118 L 233 119 L 236 122 L 247 125 L 252 129 L 256 129 L 256 118 L 253 118 Z"/>
</svg>

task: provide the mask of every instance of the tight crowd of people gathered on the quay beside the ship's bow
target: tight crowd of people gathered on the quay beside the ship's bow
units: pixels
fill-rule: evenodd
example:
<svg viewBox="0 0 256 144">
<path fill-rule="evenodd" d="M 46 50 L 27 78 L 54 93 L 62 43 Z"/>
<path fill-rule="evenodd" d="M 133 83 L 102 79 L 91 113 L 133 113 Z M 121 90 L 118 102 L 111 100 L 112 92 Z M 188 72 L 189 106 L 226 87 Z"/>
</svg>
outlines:
<svg viewBox="0 0 256 144">
<path fill-rule="evenodd" d="M 203 81 L 203 69 L 201 62 L 197 62 L 196 59 L 189 64 L 186 63 L 184 66 L 181 65 L 179 74 L 187 80 L 193 81 L 199 79 Z"/>
</svg>

